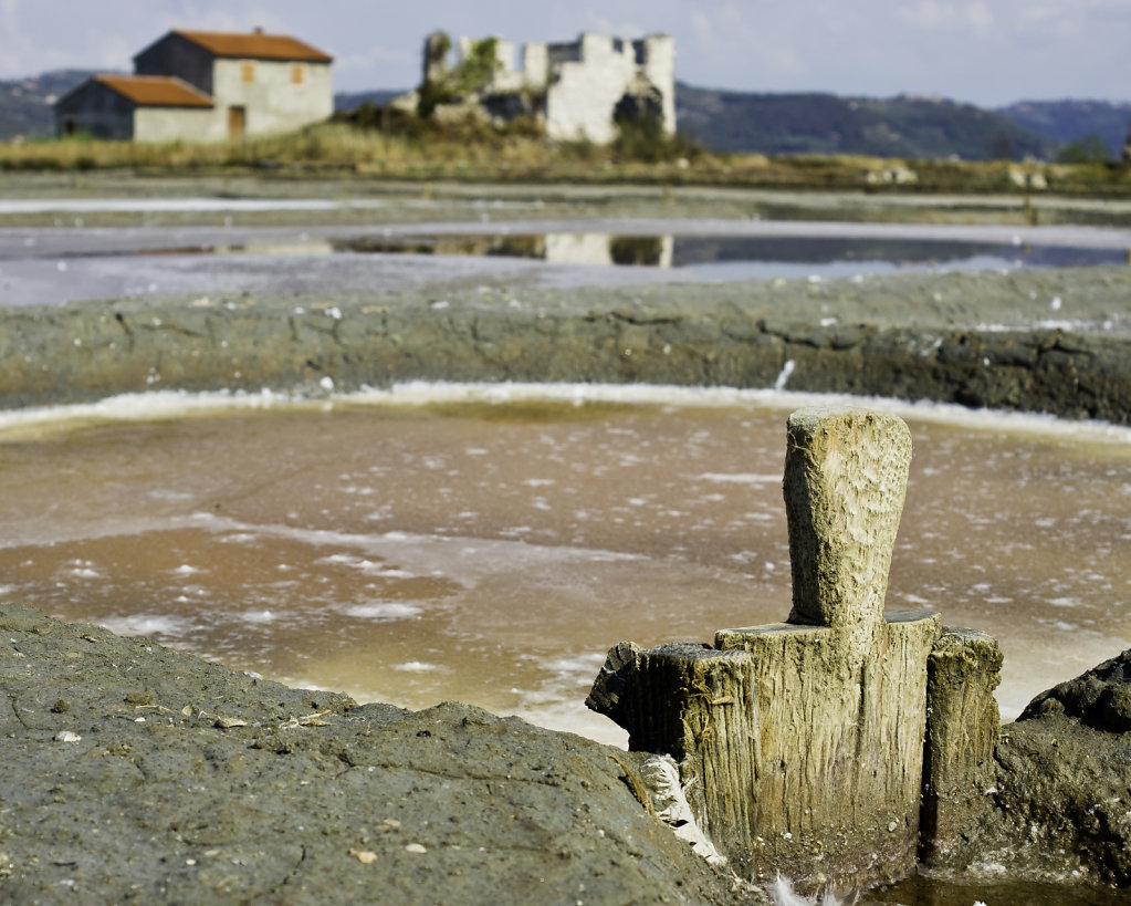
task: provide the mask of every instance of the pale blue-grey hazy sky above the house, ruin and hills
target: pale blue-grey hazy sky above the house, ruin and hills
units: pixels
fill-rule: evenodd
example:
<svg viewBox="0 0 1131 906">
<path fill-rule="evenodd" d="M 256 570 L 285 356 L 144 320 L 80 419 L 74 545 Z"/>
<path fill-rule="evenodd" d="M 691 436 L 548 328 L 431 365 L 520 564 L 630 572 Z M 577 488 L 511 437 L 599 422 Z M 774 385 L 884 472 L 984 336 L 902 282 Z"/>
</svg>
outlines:
<svg viewBox="0 0 1131 906">
<path fill-rule="evenodd" d="M 0 79 L 129 71 L 171 28 L 291 34 L 335 89 L 411 88 L 424 36 L 675 38 L 676 78 L 741 92 L 1131 101 L 1131 0 L 0 0 Z"/>
</svg>

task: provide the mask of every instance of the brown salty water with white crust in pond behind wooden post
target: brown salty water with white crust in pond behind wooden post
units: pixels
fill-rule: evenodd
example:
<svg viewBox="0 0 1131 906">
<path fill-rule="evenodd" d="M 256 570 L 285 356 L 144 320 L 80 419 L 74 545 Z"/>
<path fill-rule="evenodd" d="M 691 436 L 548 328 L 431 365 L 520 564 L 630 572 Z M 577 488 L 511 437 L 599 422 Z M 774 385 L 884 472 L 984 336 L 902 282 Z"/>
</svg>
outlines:
<svg viewBox="0 0 1131 906">
<path fill-rule="evenodd" d="M 784 424 L 806 400 L 530 392 L 0 416 L 0 601 L 362 700 L 455 698 L 623 742 L 580 704 L 611 645 L 787 613 Z M 1007 717 L 1131 645 L 1131 434 L 901 412 L 888 606 L 996 636 Z"/>
</svg>

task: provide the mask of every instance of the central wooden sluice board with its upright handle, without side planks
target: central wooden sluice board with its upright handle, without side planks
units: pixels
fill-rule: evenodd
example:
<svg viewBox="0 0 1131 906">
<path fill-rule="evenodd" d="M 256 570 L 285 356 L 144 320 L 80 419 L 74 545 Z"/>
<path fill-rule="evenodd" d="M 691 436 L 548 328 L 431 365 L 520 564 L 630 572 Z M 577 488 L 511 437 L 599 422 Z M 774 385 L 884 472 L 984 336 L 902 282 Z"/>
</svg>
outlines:
<svg viewBox="0 0 1131 906">
<path fill-rule="evenodd" d="M 788 422 L 793 610 L 716 633 L 754 659 L 758 872 L 869 882 L 918 848 L 927 656 L 940 619 L 883 615 L 912 440 L 899 419 L 802 409 Z"/>
</svg>

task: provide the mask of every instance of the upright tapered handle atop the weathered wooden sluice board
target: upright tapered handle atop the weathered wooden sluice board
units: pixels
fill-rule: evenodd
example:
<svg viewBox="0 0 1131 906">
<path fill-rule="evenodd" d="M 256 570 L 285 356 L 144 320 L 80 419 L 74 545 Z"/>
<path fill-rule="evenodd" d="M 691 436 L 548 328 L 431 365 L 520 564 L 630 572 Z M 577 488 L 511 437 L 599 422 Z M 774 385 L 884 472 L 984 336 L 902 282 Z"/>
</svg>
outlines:
<svg viewBox="0 0 1131 906">
<path fill-rule="evenodd" d="M 789 416 L 791 623 L 867 631 L 882 620 L 910 458 L 895 415 L 822 406 Z"/>
</svg>

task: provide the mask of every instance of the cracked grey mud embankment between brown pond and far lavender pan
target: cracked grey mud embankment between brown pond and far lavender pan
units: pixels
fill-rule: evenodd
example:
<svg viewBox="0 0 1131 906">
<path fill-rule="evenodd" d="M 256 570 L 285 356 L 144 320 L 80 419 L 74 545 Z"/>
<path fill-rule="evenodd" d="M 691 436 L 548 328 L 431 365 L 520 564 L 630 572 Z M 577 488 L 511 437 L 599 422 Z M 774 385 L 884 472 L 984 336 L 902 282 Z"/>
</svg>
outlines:
<svg viewBox="0 0 1131 906">
<path fill-rule="evenodd" d="M 406 380 L 883 395 L 1131 421 L 1131 269 L 9 309 L 0 406 Z"/>
</svg>

